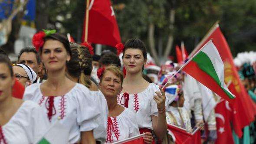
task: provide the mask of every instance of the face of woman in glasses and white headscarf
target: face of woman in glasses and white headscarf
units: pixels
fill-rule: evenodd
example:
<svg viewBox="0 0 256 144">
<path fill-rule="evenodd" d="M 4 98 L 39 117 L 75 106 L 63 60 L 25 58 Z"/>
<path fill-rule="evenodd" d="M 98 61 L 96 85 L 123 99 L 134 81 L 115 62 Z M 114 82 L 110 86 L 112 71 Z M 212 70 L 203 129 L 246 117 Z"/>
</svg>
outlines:
<svg viewBox="0 0 256 144">
<path fill-rule="evenodd" d="M 30 83 L 30 79 L 22 67 L 14 65 L 13 73 L 17 81 L 19 81 L 24 87 L 26 86 L 26 82 Z"/>
</svg>

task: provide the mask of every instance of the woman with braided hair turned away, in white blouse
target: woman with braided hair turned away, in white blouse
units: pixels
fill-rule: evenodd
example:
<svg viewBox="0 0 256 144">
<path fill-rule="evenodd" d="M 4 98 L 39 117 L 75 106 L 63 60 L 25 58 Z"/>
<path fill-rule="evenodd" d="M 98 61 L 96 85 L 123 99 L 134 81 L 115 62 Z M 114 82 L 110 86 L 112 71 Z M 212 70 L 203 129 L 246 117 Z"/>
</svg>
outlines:
<svg viewBox="0 0 256 144">
<path fill-rule="evenodd" d="M 108 105 L 102 92 L 98 92 L 97 85 L 90 81 L 92 56 L 85 46 L 70 43 L 70 47 L 72 57 L 67 63 L 67 75 L 73 82 L 79 82 L 91 90 L 92 98 L 101 111 L 100 116 L 96 119 L 98 127 L 93 130 L 93 135 L 97 143 L 104 143 L 107 136 Z"/>
</svg>

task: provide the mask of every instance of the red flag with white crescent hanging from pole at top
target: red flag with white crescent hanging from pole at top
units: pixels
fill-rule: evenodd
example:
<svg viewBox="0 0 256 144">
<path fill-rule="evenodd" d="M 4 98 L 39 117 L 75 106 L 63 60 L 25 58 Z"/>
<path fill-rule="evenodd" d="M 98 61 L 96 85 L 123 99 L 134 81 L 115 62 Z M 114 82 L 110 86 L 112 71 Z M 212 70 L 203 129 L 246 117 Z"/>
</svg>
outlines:
<svg viewBox="0 0 256 144">
<path fill-rule="evenodd" d="M 82 42 L 85 41 L 85 19 Z M 115 12 L 110 0 L 90 0 L 88 42 L 113 47 L 121 43 Z"/>
</svg>

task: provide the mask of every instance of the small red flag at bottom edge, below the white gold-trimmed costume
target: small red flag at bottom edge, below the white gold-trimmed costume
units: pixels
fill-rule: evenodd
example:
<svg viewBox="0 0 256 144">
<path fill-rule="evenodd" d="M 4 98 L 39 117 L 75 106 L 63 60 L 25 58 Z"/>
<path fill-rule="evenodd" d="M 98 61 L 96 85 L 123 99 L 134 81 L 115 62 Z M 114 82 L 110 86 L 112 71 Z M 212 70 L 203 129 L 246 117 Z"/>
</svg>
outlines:
<svg viewBox="0 0 256 144">
<path fill-rule="evenodd" d="M 175 144 L 201 144 L 200 129 L 197 128 L 192 134 L 183 128 L 167 124 L 168 134 L 171 135 Z"/>
</svg>

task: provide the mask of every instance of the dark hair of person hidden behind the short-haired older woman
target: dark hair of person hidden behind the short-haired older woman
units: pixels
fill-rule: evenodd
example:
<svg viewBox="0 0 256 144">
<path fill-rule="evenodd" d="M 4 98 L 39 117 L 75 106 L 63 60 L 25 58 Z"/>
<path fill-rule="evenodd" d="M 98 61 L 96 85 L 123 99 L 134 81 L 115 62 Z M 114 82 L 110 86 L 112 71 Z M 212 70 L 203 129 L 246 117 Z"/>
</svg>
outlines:
<svg viewBox="0 0 256 144">
<path fill-rule="evenodd" d="M 120 59 L 114 52 L 105 53 L 99 59 L 99 64 L 100 64 L 100 67 L 101 65 L 114 65 L 117 67 L 121 67 Z"/>
</svg>

